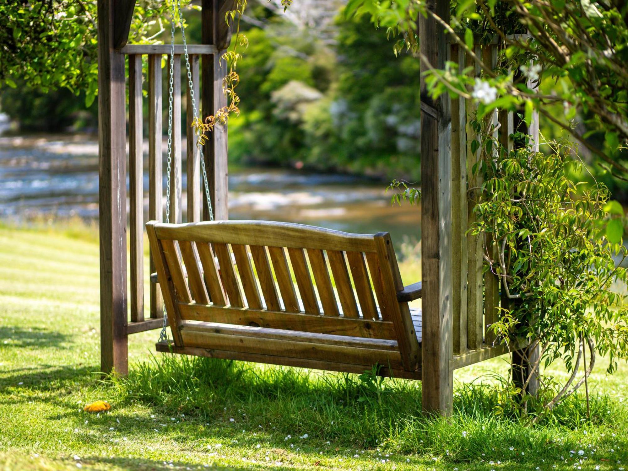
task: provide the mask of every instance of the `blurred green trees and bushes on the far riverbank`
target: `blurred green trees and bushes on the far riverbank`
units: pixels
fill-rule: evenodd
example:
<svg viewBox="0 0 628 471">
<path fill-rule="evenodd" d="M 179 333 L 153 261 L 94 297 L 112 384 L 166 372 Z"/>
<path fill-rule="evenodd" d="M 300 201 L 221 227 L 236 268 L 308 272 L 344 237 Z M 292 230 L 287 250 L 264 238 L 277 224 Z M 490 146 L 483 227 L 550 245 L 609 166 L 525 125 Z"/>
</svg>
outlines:
<svg viewBox="0 0 628 471">
<path fill-rule="evenodd" d="M 290 15 L 251 1 L 242 19 L 249 48 L 238 65 L 242 113 L 229 123 L 232 163 L 418 178 L 418 60 L 395 57 L 386 31 L 344 19 L 342 4 L 320 1 L 299 17 L 301 5 Z M 185 16 L 190 42 L 200 43 L 200 15 Z M 14 83 L 1 85 L 0 107 L 21 133 L 97 129 L 97 100 L 77 84 Z"/>
</svg>

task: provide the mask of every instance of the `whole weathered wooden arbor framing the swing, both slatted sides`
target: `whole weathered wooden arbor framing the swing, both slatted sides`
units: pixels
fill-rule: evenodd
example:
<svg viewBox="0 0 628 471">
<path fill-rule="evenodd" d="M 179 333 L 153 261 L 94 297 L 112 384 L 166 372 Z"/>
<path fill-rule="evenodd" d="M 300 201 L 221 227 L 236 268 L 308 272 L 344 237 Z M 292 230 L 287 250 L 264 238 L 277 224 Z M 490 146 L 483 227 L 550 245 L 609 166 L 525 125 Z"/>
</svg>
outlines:
<svg viewBox="0 0 628 471">
<path fill-rule="evenodd" d="M 195 84 L 199 83 L 198 77 L 201 78 L 201 89 L 198 92 L 202 97 L 203 115 L 207 116 L 222 106 L 225 100 L 222 93 L 225 70 L 220 56 L 229 43 L 224 17 L 230 7 L 230 0 L 203 0 L 202 6 L 203 44 L 190 46 L 189 50 Z M 148 56 L 149 219 L 159 221 L 163 208 L 161 59 L 170 52 L 170 46 L 125 44 L 133 7 L 134 0 L 98 1 L 101 368 L 104 372 L 115 370 L 120 374 L 127 372 L 127 336 L 159 328 L 162 323 L 162 301 L 160 288 L 156 284 L 151 284 L 149 293 L 150 318 L 144 319 L 143 286 L 148 274 L 143 271 L 141 67 L 143 56 Z M 428 7 L 441 18 L 448 18 L 448 1 L 428 0 Z M 458 46 L 448 42 L 441 26 L 432 19 L 420 18 L 420 36 L 421 51 L 433 67 L 444 68 L 448 60 L 457 60 L 461 65 L 472 64 Z M 500 46 L 497 42 L 479 46 L 476 53 L 482 55 L 484 62 L 494 63 Z M 182 52 L 180 46 L 175 48 L 173 88 L 176 124 L 180 122 L 181 112 L 179 71 Z M 126 63 L 128 73 L 125 70 Z M 425 64 L 422 64 L 421 72 L 425 70 Z M 126 247 L 127 83 L 130 289 L 127 288 Z M 195 91 L 197 96 L 198 92 Z M 491 273 L 482 274 L 484 237 L 466 234 L 475 205 L 474 192 L 468 192 L 468 188 L 476 188 L 481 184 L 479 177 L 471 171 L 479 155 L 472 153 L 467 145 L 474 137 L 467 126 L 473 107 L 473 102 L 451 100 L 447 95 L 432 100 L 421 78 L 423 324 L 418 352 L 421 364 L 417 365 L 411 376 L 420 377 L 423 381 L 423 408 L 445 414 L 452 410 L 453 370 L 507 351 L 507 347 L 494 345 L 494 339 L 486 328 L 497 318 L 497 308 L 501 302 L 499 279 Z M 189 113 L 187 119 L 189 124 L 192 119 Z M 494 120 L 495 124 L 499 122 L 501 125 L 499 139 L 506 146 L 511 146 L 512 114 L 495 114 Z M 200 157 L 192 133 L 187 134 L 187 220 L 195 222 L 201 220 L 202 212 L 205 211 L 200 207 Z M 204 156 L 215 217 L 228 219 L 226 127 L 215 127 L 205 146 Z M 181 168 L 181 129 L 175 126 L 174 178 L 170 193 L 172 222 L 181 222 L 183 219 Z M 238 243 L 244 244 L 244 241 Z M 343 249 L 336 250 L 341 254 L 344 252 Z M 151 273 L 155 255 L 151 254 Z M 192 286 L 192 283 L 198 281 L 198 277 L 188 278 L 187 281 L 185 277 L 178 280 L 181 287 L 185 283 Z M 398 299 L 403 299 L 403 290 L 398 293 Z M 282 322 L 286 323 L 286 320 Z M 239 358 L 247 359 L 244 356 Z"/>
</svg>

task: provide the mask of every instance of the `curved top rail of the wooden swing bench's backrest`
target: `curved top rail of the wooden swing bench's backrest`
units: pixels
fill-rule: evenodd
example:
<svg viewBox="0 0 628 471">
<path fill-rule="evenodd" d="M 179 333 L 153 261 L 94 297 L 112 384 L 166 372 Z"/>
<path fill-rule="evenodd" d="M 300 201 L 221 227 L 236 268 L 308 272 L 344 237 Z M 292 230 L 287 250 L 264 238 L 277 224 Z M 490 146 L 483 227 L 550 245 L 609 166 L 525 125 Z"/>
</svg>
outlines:
<svg viewBox="0 0 628 471">
<path fill-rule="evenodd" d="M 349 234 L 288 222 L 217 220 L 198 224 L 160 224 L 155 230 L 160 239 L 176 241 L 375 252 L 373 236 L 369 234 Z"/>
</svg>

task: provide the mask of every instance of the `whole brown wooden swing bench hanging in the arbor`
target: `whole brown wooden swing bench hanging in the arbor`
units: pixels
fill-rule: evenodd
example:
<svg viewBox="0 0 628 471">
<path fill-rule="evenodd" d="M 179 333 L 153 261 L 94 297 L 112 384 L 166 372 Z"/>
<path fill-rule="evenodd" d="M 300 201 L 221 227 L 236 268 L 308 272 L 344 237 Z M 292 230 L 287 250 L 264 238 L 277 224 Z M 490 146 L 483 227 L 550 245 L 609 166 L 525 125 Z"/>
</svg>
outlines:
<svg viewBox="0 0 628 471">
<path fill-rule="evenodd" d="M 387 232 L 229 220 L 146 229 L 173 337 L 160 352 L 421 379 L 421 312 L 408 307 L 421 283 L 404 288 Z"/>
</svg>

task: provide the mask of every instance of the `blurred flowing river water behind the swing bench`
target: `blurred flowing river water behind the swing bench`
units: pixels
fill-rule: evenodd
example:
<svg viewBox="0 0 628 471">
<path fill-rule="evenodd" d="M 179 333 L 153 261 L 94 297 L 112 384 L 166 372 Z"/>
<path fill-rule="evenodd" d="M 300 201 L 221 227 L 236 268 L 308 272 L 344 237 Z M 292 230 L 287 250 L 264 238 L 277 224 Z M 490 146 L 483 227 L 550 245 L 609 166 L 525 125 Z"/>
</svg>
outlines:
<svg viewBox="0 0 628 471">
<path fill-rule="evenodd" d="M 185 187 L 184 168 L 184 193 Z M 299 222 L 347 232 L 384 230 L 391 232 L 396 245 L 418 241 L 420 210 L 408 204 L 393 206 L 385 189 L 386 183 L 350 175 L 234 170 L 229 175 L 229 217 Z M 148 195 L 144 196 L 146 215 Z M 98 218 L 98 144 L 93 137 L 0 137 L 0 219 L 19 222 L 41 217 Z"/>
</svg>

